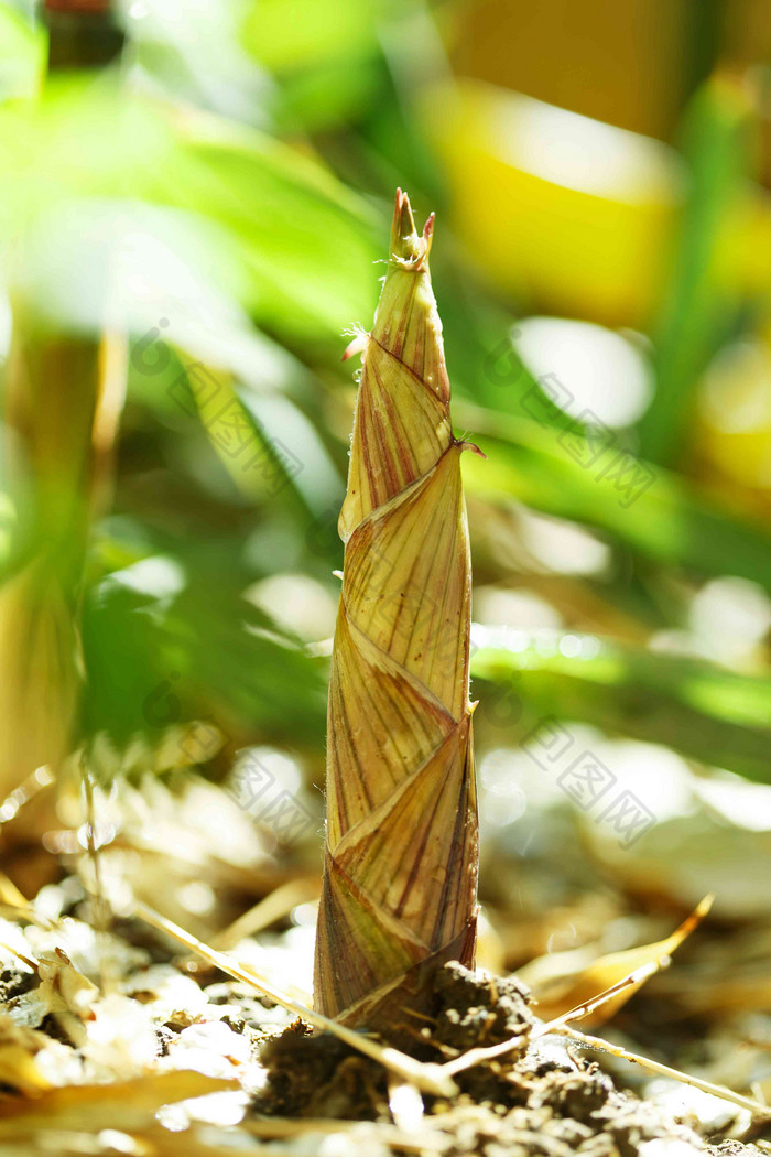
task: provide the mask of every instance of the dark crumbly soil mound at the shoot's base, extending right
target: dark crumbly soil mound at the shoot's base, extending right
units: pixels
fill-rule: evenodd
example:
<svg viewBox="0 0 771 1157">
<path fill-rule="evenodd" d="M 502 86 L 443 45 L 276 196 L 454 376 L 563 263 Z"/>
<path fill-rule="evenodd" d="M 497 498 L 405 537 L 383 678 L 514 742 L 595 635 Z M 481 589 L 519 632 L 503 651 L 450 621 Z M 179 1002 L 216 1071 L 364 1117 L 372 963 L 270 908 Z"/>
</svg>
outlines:
<svg viewBox="0 0 771 1157">
<path fill-rule="evenodd" d="M 460 1074 L 461 1093 L 452 1103 L 424 1098 L 428 1120 L 447 1143 L 443 1152 L 687 1157 L 699 1150 L 759 1157 L 762 1150 L 735 1141 L 706 1147 L 685 1123 L 616 1088 L 564 1038 L 532 1041 L 538 1023 L 529 993 L 516 979 L 484 978 L 457 963 L 437 974 L 433 1016 L 415 1033 L 415 1055 L 445 1061 L 468 1048 L 520 1038 L 505 1059 Z M 398 1031 L 402 1041 L 403 1026 Z M 312 1034 L 302 1022 L 267 1044 L 260 1059 L 268 1084 L 253 1103 L 257 1114 L 393 1122 L 384 1069 L 336 1039 Z"/>
</svg>

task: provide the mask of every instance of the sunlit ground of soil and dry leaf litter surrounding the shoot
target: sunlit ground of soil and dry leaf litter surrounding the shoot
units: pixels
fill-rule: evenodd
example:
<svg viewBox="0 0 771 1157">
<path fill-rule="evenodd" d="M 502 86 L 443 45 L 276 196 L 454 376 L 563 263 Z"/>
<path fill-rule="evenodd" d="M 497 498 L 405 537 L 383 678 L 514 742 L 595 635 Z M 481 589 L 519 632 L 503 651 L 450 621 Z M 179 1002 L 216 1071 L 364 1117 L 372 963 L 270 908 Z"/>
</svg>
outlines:
<svg viewBox="0 0 771 1157">
<path fill-rule="evenodd" d="M 240 920 L 250 899 L 259 900 L 257 912 L 265 896 L 281 896 L 287 887 L 282 868 L 265 894 L 264 880 L 253 894 L 246 890 L 250 882 L 258 886 L 251 863 L 231 864 L 230 849 L 218 845 L 216 855 L 205 854 L 212 832 L 229 831 L 209 823 L 220 798 L 214 791 L 205 796 L 212 808 L 197 805 L 192 812 L 206 815 L 207 826 L 203 850 L 184 862 L 185 872 L 158 870 L 156 837 L 147 852 L 147 840 L 138 850 L 126 835 L 129 861 L 124 847 L 103 853 L 102 878 L 120 912 L 103 933 L 95 931 L 88 882 L 64 874 L 51 883 L 46 854 L 36 887 L 28 865 L 35 899 L 6 905 L 0 913 L 0 1157 L 114 1157 L 117 1151 L 138 1157 L 770 1157 L 768 1119 L 753 1123 L 747 1110 L 729 1101 L 652 1079 L 564 1036 L 540 1034 L 538 1011 L 551 1014 L 531 1000 L 519 979 L 448 964 L 435 975 L 425 1015 L 394 1025 L 388 1044 L 421 1061 L 446 1062 L 475 1047 L 517 1041 L 498 1060 L 459 1074 L 459 1095 L 443 1099 L 418 1095 L 336 1037 L 292 1020 L 294 1014 L 218 971 L 206 953 L 192 955 L 184 939 L 124 906 L 128 871 L 140 898 L 146 887 L 153 907 L 207 942 L 227 919 L 217 909 L 220 927 L 209 919 L 197 922 L 178 904 L 180 891 L 187 894 L 191 884 L 215 879 L 213 894 L 222 893 L 228 912 Z M 154 801 L 156 821 L 158 812 L 164 815 L 164 796 Z M 176 798 L 166 803 L 169 830 L 176 831 Z M 171 838 L 166 843 L 176 847 Z M 86 871 L 88 860 L 79 865 Z M 614 899 L 605 884 L 592 891 L 588 883 L 581 883 L 586 899 L 559 907 L 555 897 L 563 893 L 554 882 L 563 868 L 554 865 L 549 877 L 539 864 L 538 874 L 533 870 L 538 890 L 527 891 L 531 877 L 518 867 L 531 914 L 544 914 L 540 923 L 533 915 L 528 923 L 521 911 L 499 913 L 501 928 L 517 928 L 521 958 L 543 952 L 555 929 L 574 926 L 581 941 L 594 942 L 603 928 L 614 922 L 617 928 L 636 912 L 625 894 Z M 550 880 L 546 890 L 544 879 Z M 313 944 L 309 896 L 312 890 L 290 887 L 283 914 L 274 914 L 269 929 L 257 938 L 252 930 L 230 950 L 244 968 L 304 1003 Z M 620 946 L 658 942 L 675 923 L 670 908 L 652 905 L 650 916 L 637 912 Z M 763 1099 L 771 1089 L 771 1034 L 766 1005 L 758 1005 L 756 994 L 758 972 L 768 975 L 769 944 L 765 924 L 717 924 L 712 934 L 702 929 L 698 942 L 695 937 L 679 951 L 676 968 L 654 978 L 601 1026 L 602 1033 Z M 513 971 L 519 964 L 509 955 L 491 966 Z M 739 1009 L 726 1010 L 718 1001 L 725 978 L 747 985 Z M 707 1001 L 711 982 L 714 1008 Z M 116 1150 L 118 1142 L 124 1148 Z"/>
</svg>

